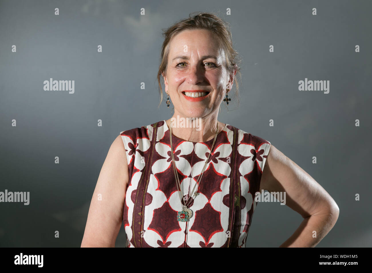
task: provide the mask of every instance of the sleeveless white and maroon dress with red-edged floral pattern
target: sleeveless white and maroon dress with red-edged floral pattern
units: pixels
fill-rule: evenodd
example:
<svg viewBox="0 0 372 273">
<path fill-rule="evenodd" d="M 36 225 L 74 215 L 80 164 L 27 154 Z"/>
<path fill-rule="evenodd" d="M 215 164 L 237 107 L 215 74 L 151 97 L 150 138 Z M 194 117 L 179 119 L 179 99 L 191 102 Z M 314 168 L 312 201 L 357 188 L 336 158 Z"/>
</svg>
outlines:
<svg viewBox="0 0 372 273">
<path fill-rule="evenodd" d="M 182 205 L 169 133 L 165 120 L 120 133 L 129 168 L 123 211 L 126 247 L 245 247 L 271 143 L 226 124 L 217 135 L 200 194 L 190 198 L 193 215 L 178 221 Z M 174 161 L 187 199 L 213 140 L 190 142 L 172 134 Z"/>
</svg>

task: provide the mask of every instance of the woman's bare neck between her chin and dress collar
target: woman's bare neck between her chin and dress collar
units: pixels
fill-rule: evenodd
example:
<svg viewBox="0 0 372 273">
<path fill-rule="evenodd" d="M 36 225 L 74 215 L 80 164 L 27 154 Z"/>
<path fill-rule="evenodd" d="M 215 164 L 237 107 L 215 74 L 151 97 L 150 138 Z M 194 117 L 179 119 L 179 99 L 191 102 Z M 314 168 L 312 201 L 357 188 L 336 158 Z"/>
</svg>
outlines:
<svg viewBox="0 0 372 273">
<path fill-rule="evenodd" d="M 214 139 L 217 131 L 217 122 L 218 133 L 225 127 L 224 123 L 217 121 L 217 115 L 204 118 L 188 118 L 174 114 L 169 120 L 166 120 L 169 129 L 171 121 L 172 135 L 191 142 L 206 142 Z"/>
</svg>

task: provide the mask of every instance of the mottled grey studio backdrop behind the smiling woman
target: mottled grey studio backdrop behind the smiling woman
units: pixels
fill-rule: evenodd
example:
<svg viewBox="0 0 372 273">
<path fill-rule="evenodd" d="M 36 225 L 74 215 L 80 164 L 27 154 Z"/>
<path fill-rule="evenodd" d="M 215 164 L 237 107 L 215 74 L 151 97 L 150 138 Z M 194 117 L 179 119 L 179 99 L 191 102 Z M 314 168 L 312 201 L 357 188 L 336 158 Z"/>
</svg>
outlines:
<svg viewBox="0 0 372 273">
<path fill-rule="evenodd" d="M 164 101 L 157 107 L 161 29 L 196 11 L 230 23 L 243 59 L 240 105 L 233 96 L 219 120 L 269 140 L 335 199 L 339 220 L 318 247 L 371 246 L 371 8 L 371 1 L 0 1 L 0 191 L 30 192 L 29 205 L 0 203 L 0 246 L 80 247 L 110 144 L 123 130 L 171 117 Z M 45 91 L 50 78 L 74 80 L 74 93 Z M 329 93 L 299 91 L 305 78 L 329 80 Z M 259 203 L 247 247 L 278 247 L 301 221 L 287 206 Z M 125 240 L 122 226 L 116 246 Z"/>
</svg>

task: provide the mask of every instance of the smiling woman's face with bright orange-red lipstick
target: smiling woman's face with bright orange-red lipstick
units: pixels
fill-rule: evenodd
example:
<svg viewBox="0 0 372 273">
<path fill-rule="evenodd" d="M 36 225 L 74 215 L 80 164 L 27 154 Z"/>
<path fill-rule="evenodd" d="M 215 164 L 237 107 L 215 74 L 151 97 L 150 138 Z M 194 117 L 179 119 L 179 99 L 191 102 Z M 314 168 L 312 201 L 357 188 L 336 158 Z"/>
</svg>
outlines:
<svg viewBox="0 0 372 273">
<path fill-rule="evenodd" d="M 234 80 L 233 75 L 228 75 L 224 58 L 218 40 L 209 30 L 183 30 L 173 37 L 163 77 L 175 115 L 206 117 L 218 114 L 226 88 L 231 89 Z"/>
</svg>

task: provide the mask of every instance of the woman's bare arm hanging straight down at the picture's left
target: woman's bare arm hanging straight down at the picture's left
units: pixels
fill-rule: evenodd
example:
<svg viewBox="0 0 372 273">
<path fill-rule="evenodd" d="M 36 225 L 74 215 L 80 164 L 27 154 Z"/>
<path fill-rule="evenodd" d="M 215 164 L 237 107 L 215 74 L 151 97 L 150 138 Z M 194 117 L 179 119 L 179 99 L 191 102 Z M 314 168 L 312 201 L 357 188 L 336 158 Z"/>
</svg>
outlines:
<svg viewBox="0 0 372 273">
<path fill-rule="evenodd" d="M 81 247 L 115 247 L 123 220 L 127 185 L 128 163 L 119 135 L 111 144 L 99 174 Z"/>
</svg>

